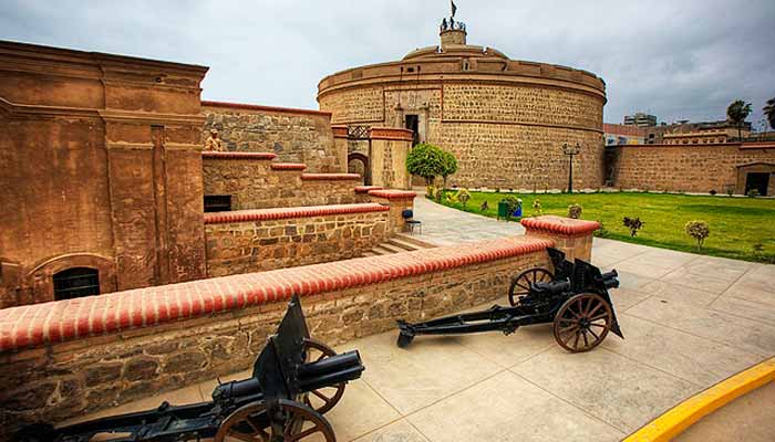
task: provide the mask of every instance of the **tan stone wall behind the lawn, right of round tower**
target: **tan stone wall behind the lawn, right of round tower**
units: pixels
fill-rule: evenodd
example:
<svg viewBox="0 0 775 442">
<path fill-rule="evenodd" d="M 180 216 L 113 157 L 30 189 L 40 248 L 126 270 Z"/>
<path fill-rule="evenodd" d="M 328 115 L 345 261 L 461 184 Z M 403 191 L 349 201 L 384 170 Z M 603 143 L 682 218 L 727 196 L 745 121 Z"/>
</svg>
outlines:
<svg viewBox="0 0 775 442">
<path fill-rule="evenodd" d="M 715 190 L 745 192 L 745 173 L 750 166 L 769 165 L 766 171 L 775 194 L 775 144 L 745 143 L 725 145 L 644 145 L 617 147 L 613 156 L 613 186 L 671 192 Z"/>
</svg>

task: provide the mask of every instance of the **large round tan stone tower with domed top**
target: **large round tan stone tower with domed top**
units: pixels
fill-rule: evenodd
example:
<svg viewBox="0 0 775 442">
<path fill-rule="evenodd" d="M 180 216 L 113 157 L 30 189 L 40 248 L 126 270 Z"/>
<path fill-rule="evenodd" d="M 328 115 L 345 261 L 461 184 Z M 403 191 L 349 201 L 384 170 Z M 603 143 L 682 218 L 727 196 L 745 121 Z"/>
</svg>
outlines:
<svg viewBox="0 0 775 442">
<path fill-rule="evenodd" d="M 604 82 L 581 70 L 510 60 L 466 36 L 464 23 L 445 19 L 441 45 L 329 75 L 318 85 L 320 109 L 332 113 L 332 124 L 409 128 L 415 141 L 452 151 L 459 170 L 450 185 L 565 189 L 562 145 L 579 143 L 574 187 L 600 187 Z"/>
</svg>

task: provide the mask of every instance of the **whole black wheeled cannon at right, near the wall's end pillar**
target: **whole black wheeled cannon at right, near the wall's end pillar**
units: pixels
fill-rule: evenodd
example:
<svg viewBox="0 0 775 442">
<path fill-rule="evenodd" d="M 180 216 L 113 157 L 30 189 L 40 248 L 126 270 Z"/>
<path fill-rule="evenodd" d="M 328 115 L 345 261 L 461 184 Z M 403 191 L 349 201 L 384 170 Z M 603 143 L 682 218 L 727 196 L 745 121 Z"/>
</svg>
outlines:
<svg viewBox="0 0 775 442">
<path fill-rule="evenodd" d="M 617 271 L 600 273 L 595 265 L 567 261 L 565 253 L 548 249 L 555 272 L 535 267 L 513 278 L 508 307 L 494 305 L 486 311 L 463 313 L 410 324 L 399 320 L 399 347 L 407 347 L 417 335 L 457 335 L 503 332 L 518 327 L 554 324 L 557 344 L 571 352 L 589 351 L 609 332 L 624 338 L 617 322 L 609 288 L 619 286 Z"/>
</svg>

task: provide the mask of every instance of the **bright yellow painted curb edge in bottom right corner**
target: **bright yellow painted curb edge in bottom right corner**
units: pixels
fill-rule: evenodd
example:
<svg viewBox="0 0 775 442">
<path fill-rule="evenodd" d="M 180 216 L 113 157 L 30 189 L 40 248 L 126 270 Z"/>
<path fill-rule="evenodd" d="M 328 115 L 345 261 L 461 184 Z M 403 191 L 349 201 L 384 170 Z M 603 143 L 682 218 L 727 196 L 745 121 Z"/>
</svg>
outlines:
<svg viewBox="0 0 775 442">
<path fill-rule="evenodd" d="M 686 399 L 627 436 L 623 442 L 670 441 L 703 417 L 773 380 L 775 380 L 775 358 L 741 371 Z"/>
</svg>

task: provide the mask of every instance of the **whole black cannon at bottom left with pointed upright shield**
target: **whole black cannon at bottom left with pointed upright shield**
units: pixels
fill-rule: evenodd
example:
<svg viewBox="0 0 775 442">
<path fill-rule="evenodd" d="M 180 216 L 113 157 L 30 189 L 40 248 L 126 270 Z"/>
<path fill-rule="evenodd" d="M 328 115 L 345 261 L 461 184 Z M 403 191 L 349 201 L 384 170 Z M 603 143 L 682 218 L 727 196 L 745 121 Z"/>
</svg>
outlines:
<svg viewBox="0 0 775 442">
<path fill-rule="evenodd" d="M 323 413 L 361 377 L 358 350 L 337 354 L 310 338 L 298 296 L 268 338 L 248 379 L 220 383 L 209 402 L 113 415 L 70 427 L 33 425 L 25 442 L 326 441 L 335 442 Z"/>
</svg>

